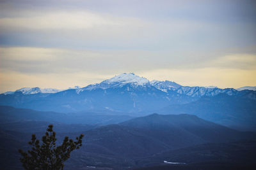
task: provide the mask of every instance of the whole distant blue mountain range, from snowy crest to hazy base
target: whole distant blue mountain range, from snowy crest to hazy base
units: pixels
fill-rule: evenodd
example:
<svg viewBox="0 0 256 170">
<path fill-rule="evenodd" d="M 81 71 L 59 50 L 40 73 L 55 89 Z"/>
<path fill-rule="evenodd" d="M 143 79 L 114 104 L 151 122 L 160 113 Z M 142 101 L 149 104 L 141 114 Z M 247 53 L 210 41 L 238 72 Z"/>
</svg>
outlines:
<svg viewBox="0 0 256 170">
<path fill-rule="evenodd" d="M 188 87 L 123 73 L 83 88 L 59 91 L 36 87 L 6 92 L 0 94 L 0 105 L 60 113 L 189 113 L 228 127 L 254 131 L 256 91 L 246 89 L 253 88 Z"/>
</svg>

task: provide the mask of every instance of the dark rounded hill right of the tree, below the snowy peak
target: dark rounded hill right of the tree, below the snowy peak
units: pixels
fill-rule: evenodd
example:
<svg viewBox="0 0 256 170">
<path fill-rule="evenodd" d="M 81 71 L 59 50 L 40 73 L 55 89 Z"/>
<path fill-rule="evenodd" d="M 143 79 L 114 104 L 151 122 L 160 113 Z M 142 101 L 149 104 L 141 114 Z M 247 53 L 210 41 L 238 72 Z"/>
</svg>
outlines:
<svg viewBox="0 0 256 170">
<path fill-rule="evenodd" d="M 156 113 L 90 129 L 84 134 L 87 140 L 83 149 L 87 152 L 121 154 L 124 157 L 144 157 L 154 154 L 156 150 L 160 153 L 209 142 L 237 141 L 250 136 L 195 115 Z"/>
</svg>

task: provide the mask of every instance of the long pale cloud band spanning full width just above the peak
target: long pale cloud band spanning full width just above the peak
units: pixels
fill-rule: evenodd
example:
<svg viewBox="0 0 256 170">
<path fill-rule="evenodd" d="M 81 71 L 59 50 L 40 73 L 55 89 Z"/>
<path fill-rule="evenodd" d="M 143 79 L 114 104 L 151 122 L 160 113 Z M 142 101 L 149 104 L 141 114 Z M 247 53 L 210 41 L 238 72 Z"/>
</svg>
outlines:
<svg viewBox="0 0 256 170">
<path fill-rule="evenodd" d="M 253 53 L 190 53 L 143 50 L 77 50 L 62 48 L 1 47 L 2 70 L 20 73 L 119 73 L 150 69 L 205 67 L 256 69 Z M 205 55 L 207 57 L 205 57 Z"/>
</svg>

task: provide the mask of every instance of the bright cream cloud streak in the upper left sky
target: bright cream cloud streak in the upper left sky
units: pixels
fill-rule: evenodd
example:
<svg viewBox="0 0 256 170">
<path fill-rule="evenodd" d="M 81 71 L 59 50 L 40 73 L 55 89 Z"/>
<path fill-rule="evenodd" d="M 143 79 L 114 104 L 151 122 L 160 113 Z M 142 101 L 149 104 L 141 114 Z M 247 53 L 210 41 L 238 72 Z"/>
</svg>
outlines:
<svg viewBox="0 0 256 170">
<path fill-rule="evenodd" d="M 25 14 L 24 14 L 25 13 Z M 122 21 L 118 17 L 99 15 L 89 11 L 23 11 L 17 17 L 0 18 L 0 27 L 12 29 L 93 29 L 102 25 L 118 26 L 125 25 L 131 21 Z M 134 22 L 134 21 L 132 21 Z"/>
</svg>

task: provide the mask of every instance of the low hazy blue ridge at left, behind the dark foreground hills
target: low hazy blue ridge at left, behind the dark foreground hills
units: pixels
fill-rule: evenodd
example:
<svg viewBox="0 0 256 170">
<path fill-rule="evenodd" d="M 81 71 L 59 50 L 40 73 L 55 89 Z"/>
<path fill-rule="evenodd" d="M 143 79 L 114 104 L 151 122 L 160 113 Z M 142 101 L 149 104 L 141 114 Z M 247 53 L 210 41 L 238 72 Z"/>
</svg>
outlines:
<svg viewBox="0 0 256 170">
<path fill-rule="evenodd" d="M 11 106 L 0 106 L 0 123 L 3 126 L 8 126 L 9 123 L 13 122 L 26 122 L 27 124 L 36 124 L 36 122 L 49 122 L 52 124 L 62 123 L 108 125 L 118 124 L 120 122 L 124 122 L 125 120 L 134 118 L 124 114 L 125 113 L 113 112 L 92 113 L 85 111 L 79 113 L 56 113 L 53 111 L 35 111 L 29 109 L 13 108 Z M 19 131 L 19 129 L 15 129 L 15 131 Z"/>
</svg>

